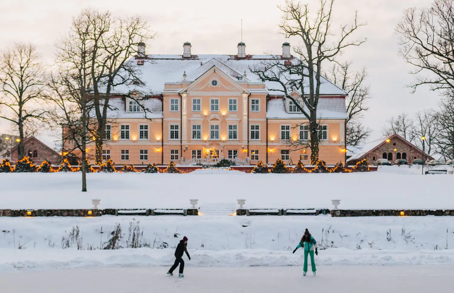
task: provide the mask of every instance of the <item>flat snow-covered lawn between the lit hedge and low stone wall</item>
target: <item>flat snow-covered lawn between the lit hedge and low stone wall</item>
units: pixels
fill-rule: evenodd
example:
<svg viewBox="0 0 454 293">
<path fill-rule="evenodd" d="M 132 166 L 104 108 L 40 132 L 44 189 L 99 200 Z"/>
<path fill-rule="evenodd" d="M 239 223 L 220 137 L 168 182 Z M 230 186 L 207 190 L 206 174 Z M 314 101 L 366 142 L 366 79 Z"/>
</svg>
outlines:
<svg viewBox="0 0 454 293">
<path fill-rule="evenodd" d="M 232 203 L 245 208 L 454 209 L 454 175 L 420 175 L 417 166 L 380 166 L 350 174 L 247 174 L 197 170 L 188 174 L 88 174 L 80 192 L 80 173 L 1 173 L 0 208 L 183 208 L 189 199 Z"/>
</svg>

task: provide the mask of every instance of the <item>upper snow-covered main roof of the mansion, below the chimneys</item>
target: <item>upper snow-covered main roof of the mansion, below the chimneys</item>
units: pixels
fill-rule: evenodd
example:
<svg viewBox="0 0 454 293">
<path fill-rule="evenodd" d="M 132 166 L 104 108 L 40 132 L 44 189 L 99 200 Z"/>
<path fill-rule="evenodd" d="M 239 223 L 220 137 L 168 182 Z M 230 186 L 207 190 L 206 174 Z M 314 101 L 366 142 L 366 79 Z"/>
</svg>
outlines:
<svg viewBox="0 0 454 293">
<path fill-rule="evenodd" d="M 123 84 L 116 86 L 113 92 L 126 94 L 138 90 L 144 94 L 159 94 L 163 92 L 165 83 L 182 81 L 184 72 L 187 74 L 186 79 L 193 81 L 213 65 L 235 80 L 246 72 L 248 82 L 262 82 L 256 74 L 251 72 L 251 68 L 276 58 L 272 55 L 248 55 L 245 59 L 237 59 L 234 55 L 214 54 L 193 55 L 192 58 L 183 58 L 183 55 L 148 55 L 147 57 L 143 65 L 136 65 L 137 60 L 134 57 L 128 61 L 133 66 L 139 67 L 141 71 L 139 78 L 144 86 Z M 281 62 L 285 62 L 285 60 L 281 60 Z M 299 61 L 293 58 L 291 62 Z M 267 89 L 280 88 L 276 82 L 265 82 L 265 85 Z M 270 95 L 282 95 L 280 91 L 268 90 L 268 92 Z M 320 94 L 344 96 L 346 92 L 322 77 Z"/>
</svg>

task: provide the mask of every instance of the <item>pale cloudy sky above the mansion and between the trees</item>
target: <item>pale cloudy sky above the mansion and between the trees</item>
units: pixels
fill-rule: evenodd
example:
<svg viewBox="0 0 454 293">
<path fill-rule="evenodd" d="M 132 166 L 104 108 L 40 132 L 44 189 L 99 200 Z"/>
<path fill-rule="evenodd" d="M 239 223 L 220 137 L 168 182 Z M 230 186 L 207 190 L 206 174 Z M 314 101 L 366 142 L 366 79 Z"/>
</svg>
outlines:
<svg viewBox="0 0 454 293">
<path fill-rule="evenodd" d="M 318 1 L 306 0 L 313 10 Z M 355 38 L 367 37 L 360 47 L 347 48 L 341 60 L 351 60 L 355 68 L 366 67 L 372 99 L 365 113 L 364 125 L 374 130 L 372 138 L 381 136 L 385 121 L 405 111 L 410 115 L 435 108 L 437 92 L 420 88 L 411 93 L 407 87 L 415 81 L 412 70 L 398 55 L 395 25 L 409 7 L 429 6 L 432 0 L 336 0 L 335 25 L 350 24 L 355 10 L 359 21 L 367 22 Z M 15 42 L 34 43 L 44 60 L 51 63 L 54 44 L 69 30 L 72 18 L 83 8 L 110 10 L 118 16 L 140 15 L 148 21 L 157 37 L 147 44 L 147 53 L 182 54 L 183 43 L 192 44 L 193 54 L 236 54 L 241 40 L 247 54 L 281 53 L 285 41 L 296 45 L 298 39 L 286 40 L 278 33 L 284 0 L 0 0 L 0 49 Z M 0 119 L 0 133 L 9 125 Z M 55 138 L 45 130 L 38 135 L 53 147 Z"/>
</svg>

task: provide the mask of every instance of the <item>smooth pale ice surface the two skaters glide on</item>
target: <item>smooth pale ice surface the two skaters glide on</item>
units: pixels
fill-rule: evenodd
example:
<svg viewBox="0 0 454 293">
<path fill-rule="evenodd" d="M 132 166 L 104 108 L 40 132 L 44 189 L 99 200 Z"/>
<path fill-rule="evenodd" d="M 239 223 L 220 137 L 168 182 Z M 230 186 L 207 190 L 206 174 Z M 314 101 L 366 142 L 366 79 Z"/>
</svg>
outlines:
<svg viewBox="0 0 454 293">
<path fill-rule="evenodd" d="M 300 267 L 192 268 L 185 277 L 168 268 L 65 269 L 0 274 L 2 292 L 452 292 L 454 266 L 320 266 L 317 276 Z"/>
</svg>

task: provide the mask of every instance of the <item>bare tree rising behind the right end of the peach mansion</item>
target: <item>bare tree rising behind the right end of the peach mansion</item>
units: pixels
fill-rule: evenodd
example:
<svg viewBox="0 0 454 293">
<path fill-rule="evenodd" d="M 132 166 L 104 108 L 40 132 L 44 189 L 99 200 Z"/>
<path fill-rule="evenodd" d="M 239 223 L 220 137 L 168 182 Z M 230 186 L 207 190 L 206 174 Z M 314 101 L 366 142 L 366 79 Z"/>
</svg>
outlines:
<svg viewBox="0 0 454 293">
<path fill-rule="evenodd" d="M 335 63 L 327 76 L 348 93 L 345 101 L 348 115 L 346 141 L 347 145 L 357 146 L 372 132 L 361 123 L 364 112 L 368 110 L 366 101 L 370 99 L 370 86 L 365 84 L 366 69 L 353 72 L 350 66 L 351 62 Z"/>
</svg>

